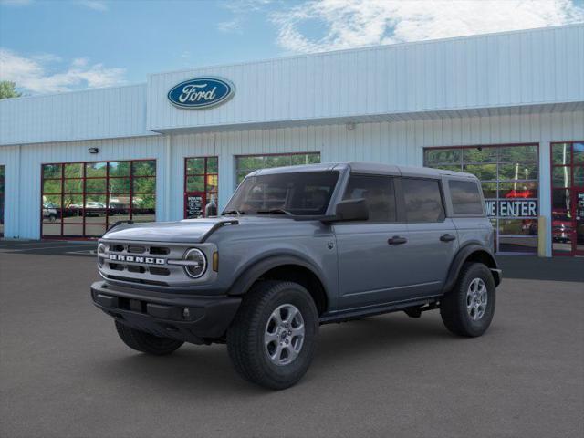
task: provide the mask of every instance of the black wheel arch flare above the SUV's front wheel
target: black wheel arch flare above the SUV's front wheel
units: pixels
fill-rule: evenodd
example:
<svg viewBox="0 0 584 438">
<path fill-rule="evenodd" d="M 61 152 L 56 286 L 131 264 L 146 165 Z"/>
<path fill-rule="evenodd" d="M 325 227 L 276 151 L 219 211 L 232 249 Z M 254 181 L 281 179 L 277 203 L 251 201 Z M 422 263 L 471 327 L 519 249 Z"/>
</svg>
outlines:
<svg viewBox="0 0 584 438">
<path fill-rule="evenodd" d="M 255 262 L 235 279 L 228 289 L 227 295 L 244 295 L 257 281 L 261 280 L 298 283 L 306 287 L 314 299 L 318 315 L 322 315 L 328 309 L 330 300 L 322 277 L 314 266 L 295 255 L 269 256 Z"/>
</svg>

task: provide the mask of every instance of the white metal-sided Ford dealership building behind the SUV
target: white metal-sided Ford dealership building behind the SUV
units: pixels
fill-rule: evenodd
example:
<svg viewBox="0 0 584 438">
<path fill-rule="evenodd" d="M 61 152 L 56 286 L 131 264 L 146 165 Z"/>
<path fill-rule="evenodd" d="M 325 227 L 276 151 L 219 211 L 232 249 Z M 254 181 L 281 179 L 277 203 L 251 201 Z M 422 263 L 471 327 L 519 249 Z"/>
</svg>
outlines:
<svg viewBox="0 0 584 438">
<path fill-rule="evenodd" d="M 0 100 L 0 232 L 199 217 L 255 169 L 345 161 L 472 172 L 499 253 L 584 255 L 584 25 Z"/>
</svg>

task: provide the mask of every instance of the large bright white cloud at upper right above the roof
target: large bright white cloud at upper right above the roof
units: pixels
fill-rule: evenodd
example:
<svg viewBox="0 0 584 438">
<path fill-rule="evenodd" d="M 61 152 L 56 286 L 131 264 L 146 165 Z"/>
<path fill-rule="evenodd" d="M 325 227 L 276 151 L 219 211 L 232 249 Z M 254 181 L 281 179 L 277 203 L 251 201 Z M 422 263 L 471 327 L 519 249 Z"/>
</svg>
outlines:
<svg viewBox="0 0 584 438">
<path fill-rule="evenodd" d="M 307 53 L 582 22 L 584 6 L 572 0 L 310 0 L 271 19 L 280 47 Z M 324 35 L 303 31 L 315 23 Z"/>
</svg>

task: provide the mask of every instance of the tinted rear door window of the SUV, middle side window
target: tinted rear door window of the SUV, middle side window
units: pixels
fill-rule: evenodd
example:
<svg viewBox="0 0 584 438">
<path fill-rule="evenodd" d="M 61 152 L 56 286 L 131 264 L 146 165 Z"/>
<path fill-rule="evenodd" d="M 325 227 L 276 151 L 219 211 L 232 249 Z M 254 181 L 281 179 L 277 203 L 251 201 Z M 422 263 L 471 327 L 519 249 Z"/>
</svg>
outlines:
<svg viewBox="0 0 584 438">
<path fill-rule="evenodd" d="M 438 180 L 402 178 L 401 189 L 408 222 L 442 222 L 444 206 Z"/>
</svg>

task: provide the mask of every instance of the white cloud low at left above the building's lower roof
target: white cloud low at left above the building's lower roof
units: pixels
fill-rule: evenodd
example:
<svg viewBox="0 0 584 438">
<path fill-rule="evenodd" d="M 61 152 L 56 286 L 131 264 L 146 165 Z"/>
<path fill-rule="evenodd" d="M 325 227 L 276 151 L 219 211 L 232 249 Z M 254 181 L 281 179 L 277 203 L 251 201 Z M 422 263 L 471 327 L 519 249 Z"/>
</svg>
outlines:
<svg viewBox="0 0 584 438">
<path fill-rule="evenodd" d="M 45 55 L 47 57 L 47 55 Z M 64 71 L 54 71 L 51 61 L 38 57 L 23 57 L 0 48 L 0 80 L 16 82 L 16 86 L 32 93 L 53 93 L 71 89 L 96 89 L 125 82 L 125 68 L 106 68 L 89 64 L 87 58 L 74 59 Z"/>
</svg>

